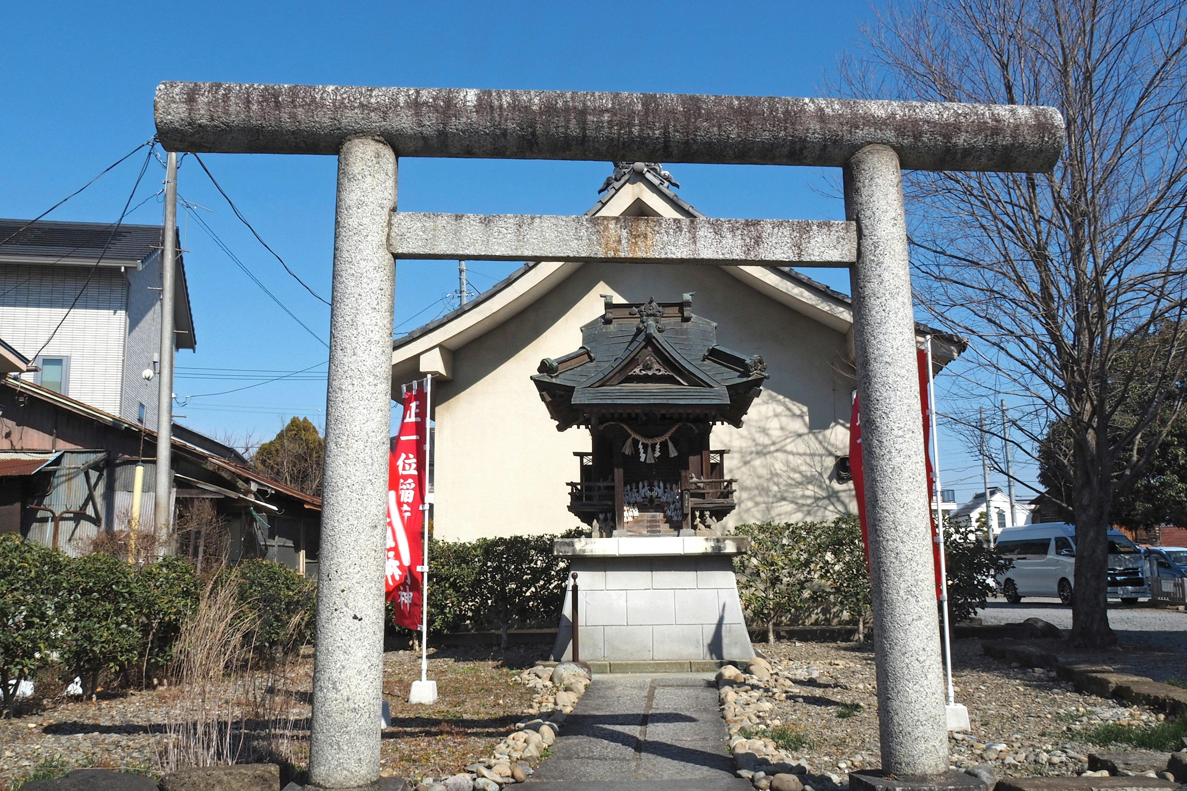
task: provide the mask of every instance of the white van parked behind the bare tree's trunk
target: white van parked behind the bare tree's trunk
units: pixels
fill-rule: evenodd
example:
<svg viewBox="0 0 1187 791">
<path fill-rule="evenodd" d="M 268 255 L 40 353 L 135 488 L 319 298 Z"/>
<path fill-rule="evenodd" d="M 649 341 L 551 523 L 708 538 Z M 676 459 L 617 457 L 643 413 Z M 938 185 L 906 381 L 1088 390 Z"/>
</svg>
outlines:
<svg viewBox="0 0 1187 791">
<path fill-rule="evenodd" d="M 1014 568 L 997 575 L 997 586 L 1010 604 L 1022 597 L 1059 597 L 1072 604 L 1075 583 L 1075 527 L 1041 522 L 1007 528 L 997 535 L 997 550 Z M 1109 530 L 1109 598 L 1136 604 L 1149 597 L 1142 550 L 1118 530 Z"/>
</svg>

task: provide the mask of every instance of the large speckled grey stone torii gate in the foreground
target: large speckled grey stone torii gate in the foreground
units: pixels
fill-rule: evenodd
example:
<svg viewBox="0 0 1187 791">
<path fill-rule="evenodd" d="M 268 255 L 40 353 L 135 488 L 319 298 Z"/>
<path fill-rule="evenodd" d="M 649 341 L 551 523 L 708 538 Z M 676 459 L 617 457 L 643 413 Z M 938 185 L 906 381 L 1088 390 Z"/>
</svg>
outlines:
<svg viewBox="0 0 1187 791">
<path fill-rule="evenodd" d="M 166 82 L 155 119 L 167 151 L 338 157 L 310 787 L 379 779 L 393 256 L 850 267 L 882 768 L 946 782 L 901 168 L 1049 172 L 1058 110 Z M 396 212 L 399 157 L 840 167 L 846 219 Z"/>
</svg>

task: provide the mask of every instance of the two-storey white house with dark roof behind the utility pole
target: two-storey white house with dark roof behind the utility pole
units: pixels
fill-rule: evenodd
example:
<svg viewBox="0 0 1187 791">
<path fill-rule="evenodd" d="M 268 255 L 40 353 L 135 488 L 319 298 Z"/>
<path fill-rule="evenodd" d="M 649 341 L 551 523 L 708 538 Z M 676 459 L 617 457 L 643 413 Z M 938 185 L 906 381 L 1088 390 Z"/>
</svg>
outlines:
<svg viewBox="0 0 1187 791">
<path fill-rule="evenodd" d="M 157 425 L 161 225 L 0 219 L 0 337 L 21 377 L 106 413 Z M 183 254 L 174 349 L 195 347 Z M 2 353 L 2 352 L 0 352 Z"/>
</svg>

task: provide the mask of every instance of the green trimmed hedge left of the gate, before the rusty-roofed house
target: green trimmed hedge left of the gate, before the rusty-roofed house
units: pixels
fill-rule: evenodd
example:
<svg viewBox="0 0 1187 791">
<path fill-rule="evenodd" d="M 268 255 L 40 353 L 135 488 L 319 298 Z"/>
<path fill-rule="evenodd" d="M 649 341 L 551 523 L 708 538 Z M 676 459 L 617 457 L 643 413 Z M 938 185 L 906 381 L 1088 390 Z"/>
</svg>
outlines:
<svg viewBox="0 0 1187 791">
<path fill-rule="evenodd" d="M 212 585 L 234 585 L 245 640 L 277 656 L 312 639 L 315 586 L 288 568 L 249 560 Z M 17 534 L 0 535 L 0 690 L 15 716 L 15 690 L 51 664 L 94 694 L 103 674 L 164 671 L 203 581 L 178 556 L 133 566 L 95 553 L 70 557 Z"/>
</svg>

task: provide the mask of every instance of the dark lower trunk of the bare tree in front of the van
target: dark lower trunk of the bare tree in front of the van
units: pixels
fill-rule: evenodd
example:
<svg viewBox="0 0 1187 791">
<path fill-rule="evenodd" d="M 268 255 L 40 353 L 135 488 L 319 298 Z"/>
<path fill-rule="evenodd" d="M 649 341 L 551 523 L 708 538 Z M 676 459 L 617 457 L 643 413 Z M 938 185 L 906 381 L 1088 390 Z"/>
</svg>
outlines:
<svg viewBox="0 0 1187 791">
<path fill-rule="evenodd" d="M 1079 460 L 1078 460 L 1079 461 Z M 1083 463 L 1077 465 L 1081 471 Z M 1085 472 L 1075 480 L 1075 595 L 1072 598 L 1072 645 L 1106 648 L 1117 644 L 1109 626 L 1109 506 Z"/>
</svg>

